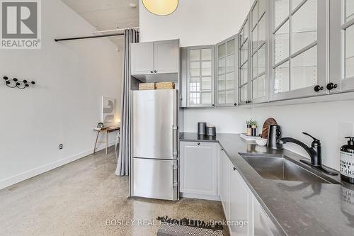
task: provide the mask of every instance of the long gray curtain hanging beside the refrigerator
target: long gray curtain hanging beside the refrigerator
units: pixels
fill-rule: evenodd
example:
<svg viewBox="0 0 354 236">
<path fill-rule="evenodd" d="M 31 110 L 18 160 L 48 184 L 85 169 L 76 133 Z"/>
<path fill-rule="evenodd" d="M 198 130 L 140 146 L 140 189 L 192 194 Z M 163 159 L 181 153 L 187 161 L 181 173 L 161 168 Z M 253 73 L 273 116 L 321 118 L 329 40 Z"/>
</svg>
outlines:
<svg viewBox="0 0 354 236">
<path fill-rule="evenodd" d="M 122 79 L 122 111 L 120 118 L 120 142 L 118 150 L 118 164 L 115 174 L 124 176 L 129 175 L 130 169 L 130 43 L 139 42 L 137 30 L 127 29 L 124 32 L 124 69 Z"/>
</svg>

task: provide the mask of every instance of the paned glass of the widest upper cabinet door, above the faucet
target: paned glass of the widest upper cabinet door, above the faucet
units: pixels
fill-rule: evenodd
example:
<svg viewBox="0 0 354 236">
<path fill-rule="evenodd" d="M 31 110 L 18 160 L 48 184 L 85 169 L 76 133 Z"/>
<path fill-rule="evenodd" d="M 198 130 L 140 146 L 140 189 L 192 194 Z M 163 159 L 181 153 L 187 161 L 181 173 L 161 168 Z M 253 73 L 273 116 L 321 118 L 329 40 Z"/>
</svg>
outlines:
<svg viewBox="0 0 354 236">
<path fill-rule="evenodd" d="M 273 94 L 317 84 L 317 1 L 274 0 Z"/>
</svg>

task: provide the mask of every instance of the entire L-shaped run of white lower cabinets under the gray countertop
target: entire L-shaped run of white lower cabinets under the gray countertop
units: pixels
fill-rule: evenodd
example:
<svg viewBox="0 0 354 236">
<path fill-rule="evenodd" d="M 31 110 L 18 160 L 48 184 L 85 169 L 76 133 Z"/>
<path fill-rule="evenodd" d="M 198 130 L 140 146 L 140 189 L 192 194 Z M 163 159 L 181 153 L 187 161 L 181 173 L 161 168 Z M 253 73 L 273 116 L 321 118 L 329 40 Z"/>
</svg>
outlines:
<svg viewBox="0 0 354 236">
<path fill-rule="evenodd" d="M 220 199 L 232 236 L 281 235 L 216 142 L 180 142 L 182 196 Z"/>
</svg>

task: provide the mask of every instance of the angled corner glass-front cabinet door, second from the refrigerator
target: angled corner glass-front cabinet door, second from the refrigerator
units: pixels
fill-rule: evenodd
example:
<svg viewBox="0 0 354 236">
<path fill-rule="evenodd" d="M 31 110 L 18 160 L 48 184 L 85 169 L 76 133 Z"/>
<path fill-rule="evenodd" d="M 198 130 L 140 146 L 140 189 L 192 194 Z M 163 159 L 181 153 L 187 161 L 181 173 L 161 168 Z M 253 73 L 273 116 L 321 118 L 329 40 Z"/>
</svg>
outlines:
<svg viewBox="0 0 354 236">
<path fill-rule="evenodd" d="M 237 45 L 238 35 L 218 43 L 216 60 L 216 106 L 237 106 Z"/>
</svg>

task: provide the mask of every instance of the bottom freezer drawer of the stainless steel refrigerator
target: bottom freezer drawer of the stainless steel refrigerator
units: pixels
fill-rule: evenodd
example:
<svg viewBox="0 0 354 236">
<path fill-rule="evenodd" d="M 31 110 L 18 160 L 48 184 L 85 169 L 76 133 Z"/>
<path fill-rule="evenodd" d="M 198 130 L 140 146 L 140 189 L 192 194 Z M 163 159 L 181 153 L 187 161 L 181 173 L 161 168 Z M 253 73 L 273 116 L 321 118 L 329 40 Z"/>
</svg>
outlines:
<svg viewBox="0 0 354 236">
<path fill-rule="evenodd" d="M 132 196 L 178 200 L 177 161 L 133 158 Z"/>
</svg>

